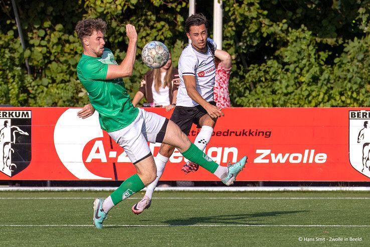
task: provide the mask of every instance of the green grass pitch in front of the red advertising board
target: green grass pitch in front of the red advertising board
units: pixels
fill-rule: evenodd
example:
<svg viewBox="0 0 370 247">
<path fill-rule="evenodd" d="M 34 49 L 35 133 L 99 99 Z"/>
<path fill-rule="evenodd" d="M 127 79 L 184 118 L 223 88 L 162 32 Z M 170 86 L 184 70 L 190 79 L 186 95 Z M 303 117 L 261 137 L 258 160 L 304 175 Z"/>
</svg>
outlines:
<svg viewBox="0 0 370 247">
<path fill-rule="evenodd" d="M 0 192 L 0 246 L 370 246 L 369 192 L 143 192 L 92 224 L 109 192 Z"/>
</svg>

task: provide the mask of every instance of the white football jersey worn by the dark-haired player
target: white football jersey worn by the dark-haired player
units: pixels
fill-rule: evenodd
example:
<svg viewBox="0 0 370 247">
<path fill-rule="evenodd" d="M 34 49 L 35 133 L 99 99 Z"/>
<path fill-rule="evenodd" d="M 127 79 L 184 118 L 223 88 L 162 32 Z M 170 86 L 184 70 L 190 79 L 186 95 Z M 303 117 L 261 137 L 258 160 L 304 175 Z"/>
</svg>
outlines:
<svg viewBox="0 0 370 247">
<path fill-rule="evenodd" d="M 216 50 L 216 43 L 208 38 Z M 196 89 L 208 102 L 213 100 L 213 87 L 215 86 L 216 66 L 213 54 L 208 46 L 207 52 L 197 51 L 191 44 L 187 45 L 181 52 L 178 60 L 178 75 L 180 85 L 177 91 L 176 105 L 196 106 L 198 103 L 189 97 L 183 75 L 193 75 L 196 79 Z"/>
</svg>

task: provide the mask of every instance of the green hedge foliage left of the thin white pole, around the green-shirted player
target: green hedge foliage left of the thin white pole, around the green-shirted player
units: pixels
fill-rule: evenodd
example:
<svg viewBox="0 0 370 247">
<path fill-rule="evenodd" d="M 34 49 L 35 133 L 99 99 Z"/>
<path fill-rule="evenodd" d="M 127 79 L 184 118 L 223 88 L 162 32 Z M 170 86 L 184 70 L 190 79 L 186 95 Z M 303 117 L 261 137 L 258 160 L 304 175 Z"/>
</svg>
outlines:
<svg viewBox="0 0 370 247">
<path fill-rule="evenodd" d="M 174 63 L 187 41 L 183 22 L 186 1 L 16 1 L 27 49 L 18 36 L 11 1 L 1 1 L 0 103 L 16 106 L 81 106 L 88 102 L 78 81 L 76 66 L 83 52 L 74 31 L 77 21 L 100 17 L 107 21 L 106 46 L 122 61 L 128 40 L 125 26 L 139 31 L 137 61 L 133 76 L 125 79 L 133 94 L 148 68 L 141 49 L 151 40 L 167 44 Z M 4 14 L 4 15 L 3 15 Z M 3 18 L 4 16 L 4 18 Z M 25 59 L 31 67 L 27 73 Z"/>
</svg>

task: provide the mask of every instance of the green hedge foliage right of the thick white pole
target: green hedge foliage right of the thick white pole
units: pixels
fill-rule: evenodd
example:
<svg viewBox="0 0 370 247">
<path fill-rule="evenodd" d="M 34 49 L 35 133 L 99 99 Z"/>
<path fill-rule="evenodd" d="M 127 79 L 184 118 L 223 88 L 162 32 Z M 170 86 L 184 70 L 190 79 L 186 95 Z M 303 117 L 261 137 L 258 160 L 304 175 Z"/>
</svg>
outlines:
<svg viewBox="0 0 370 247">
<path fill-rule="evenodd" d="M 368 1 L 223 3 L 234 105 L 370 105 Z"/>
</svg>

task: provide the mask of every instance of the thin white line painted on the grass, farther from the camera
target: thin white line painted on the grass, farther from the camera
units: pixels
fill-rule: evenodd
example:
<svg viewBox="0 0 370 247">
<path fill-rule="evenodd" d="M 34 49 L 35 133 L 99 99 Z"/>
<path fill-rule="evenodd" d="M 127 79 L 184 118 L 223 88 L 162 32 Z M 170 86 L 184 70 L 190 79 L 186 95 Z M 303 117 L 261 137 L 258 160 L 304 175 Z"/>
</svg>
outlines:
<svg viewBox="0 0 370 247">
<path fill-rule="evenodd" d="M 0 200 L 94 200 L 96 197 L 0 197 Z M 141 197 L 127 199 L 139 200 Z M 154 197 L 157 200 L 368 200 L 370 197 Z"/>
</svg>

